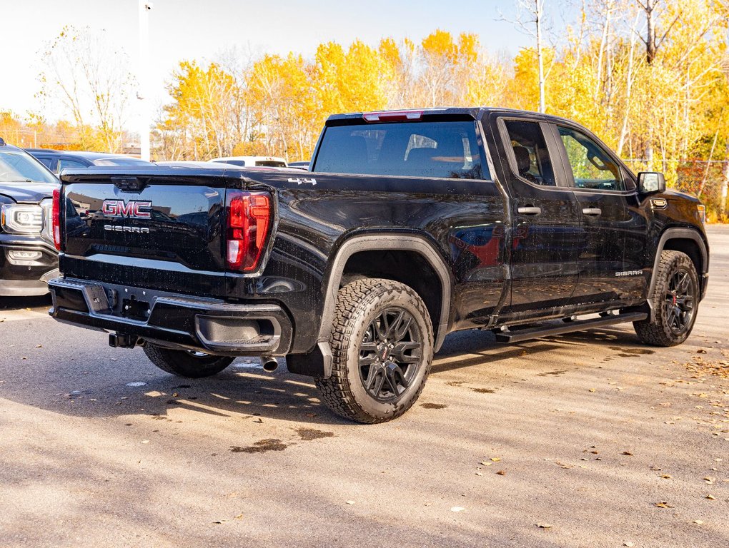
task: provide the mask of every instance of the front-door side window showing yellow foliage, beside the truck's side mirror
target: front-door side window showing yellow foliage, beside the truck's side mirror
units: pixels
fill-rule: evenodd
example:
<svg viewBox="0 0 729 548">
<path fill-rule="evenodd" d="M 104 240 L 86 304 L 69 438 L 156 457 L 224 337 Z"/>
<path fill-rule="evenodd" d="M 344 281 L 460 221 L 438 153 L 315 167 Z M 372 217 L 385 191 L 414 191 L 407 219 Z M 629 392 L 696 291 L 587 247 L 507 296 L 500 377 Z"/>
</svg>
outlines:
<svg viewBox="0 0 729 548">
<path fill-rule="evenodd" d="M 591 190 L 624 191 L 625 177 L 620 166 L 610 156 L 582 133 L 569 127 L 558 127 L 559 136 L 567 152 L 576 188 Z"/>
</svg>

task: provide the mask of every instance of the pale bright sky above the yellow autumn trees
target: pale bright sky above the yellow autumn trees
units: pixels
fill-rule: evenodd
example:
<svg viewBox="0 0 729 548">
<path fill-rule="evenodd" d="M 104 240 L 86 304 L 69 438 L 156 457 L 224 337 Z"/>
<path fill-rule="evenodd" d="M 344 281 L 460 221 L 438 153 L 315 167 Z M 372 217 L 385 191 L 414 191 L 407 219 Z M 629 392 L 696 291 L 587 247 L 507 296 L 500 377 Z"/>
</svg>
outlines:
<svg viewBox="0 0 729 548">
<path fill-rule="evenodd" d="M 385 36 L 419 41 L 440 28 L 454 35 L 477 33 L 494 53 L 513 55 L 531 41 L 515 31 L 512 23 L 499 20 L 499 12 L 515 17 L 514 4 L 504 0 L 154 0 L 149 20 L 154 67 L 149 95 L 154 106 L 165 102 L 165 80 L 179 60 L 210 60 L 235 46 L 312 57 L 322 41 L 345 46 L 355 38 L 372 45 Z M 564 6 L 566 1 L 559 4 Z M 27 111 L 39 108 L 34 94 L 39 90 L 40 51 L 63 25 L 105 29 L 114 45 L 128 53 L 134 71 L 139 61 L 138 6 L 138 0 L 0 0 L 0 110 L 25 117 Z M 45 114 L 55 119 L 52 113 Z"/>
</svg>

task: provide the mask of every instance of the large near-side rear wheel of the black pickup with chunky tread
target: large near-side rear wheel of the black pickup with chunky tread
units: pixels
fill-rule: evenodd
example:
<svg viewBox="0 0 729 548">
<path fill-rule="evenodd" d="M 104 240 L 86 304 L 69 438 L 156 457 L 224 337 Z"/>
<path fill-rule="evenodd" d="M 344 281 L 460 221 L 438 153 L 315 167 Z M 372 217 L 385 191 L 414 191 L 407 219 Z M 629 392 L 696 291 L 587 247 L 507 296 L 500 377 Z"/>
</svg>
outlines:
<svg viewBox="0 0 729 548">
<path fill-rule="evenodd" d="M 392 334 L 389 341 L 386 333 Z M 339 290 L 331 346 L 332 376 L 315 379 L 321 400 L 352 421 L 391 421 L 423 391 L 433 359 L 433 327 L 411 287 L 390 279 L 358 279 Z M 362 365 L 369 361 L 372 365 Z"/>
</svg>

